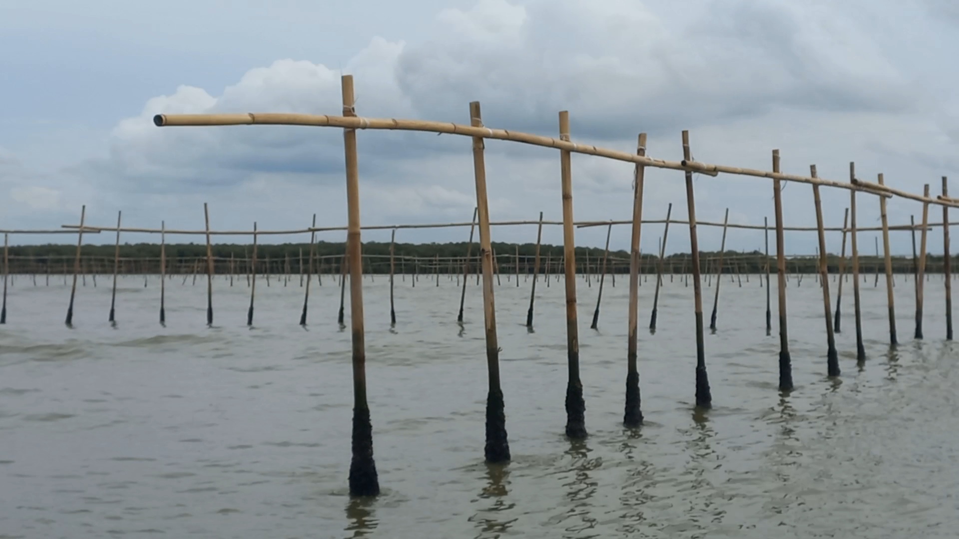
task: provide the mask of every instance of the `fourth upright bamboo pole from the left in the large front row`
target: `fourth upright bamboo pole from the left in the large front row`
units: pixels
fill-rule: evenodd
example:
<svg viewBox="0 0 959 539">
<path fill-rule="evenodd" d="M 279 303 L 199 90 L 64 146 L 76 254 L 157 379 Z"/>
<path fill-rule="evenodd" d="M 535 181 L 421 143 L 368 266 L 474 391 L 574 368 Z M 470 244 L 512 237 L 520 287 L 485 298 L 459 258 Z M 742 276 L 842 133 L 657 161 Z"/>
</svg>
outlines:
<svg viewBox="0 0 959 539">
<path fill-rule="evenodd" d="M 636 143 L 636 153 L 646 154 L 646 133 L 640 133 Z M 643 425 L 642 396 L 640 393 L 640 369 L 637 364 L 637 328 L 639 326 L 640 307 L 640 241 L 643 233 L 643 187 L 645 186 L 645 167 L 636 164 L 633 168 L 633 222 L 629 237 L 629 314 L 627 316 L 626 340 L 626 404 L 622 413 L 623 426 L 634 429 Z M 672 208 L 672 204 L 669 204 Z M 668 213 L 667 213 L 668 216 Z M 667 217 L 668 220 L 668 217 Z M 655 320 L 656 308 L 653 307 Z"/>
</svg>

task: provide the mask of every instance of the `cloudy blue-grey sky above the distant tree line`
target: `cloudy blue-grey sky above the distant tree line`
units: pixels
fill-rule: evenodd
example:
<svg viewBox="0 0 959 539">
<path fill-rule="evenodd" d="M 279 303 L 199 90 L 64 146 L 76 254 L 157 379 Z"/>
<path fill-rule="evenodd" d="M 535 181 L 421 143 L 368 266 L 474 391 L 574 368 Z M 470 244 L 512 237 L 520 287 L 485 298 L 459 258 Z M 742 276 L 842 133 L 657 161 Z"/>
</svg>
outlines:
<svg viewBox="0 0 959 539">
<path fill-rule="evenodd" d="M 0 3 L 0 229 L 79 223 L 201 229 L 297 229 L 346 223 L 339 129 L 156 128 L 156 113 L 338 115 L 340 76 L 353 75 L 361 116 L 469 123 L 479 101 L 491 128 L 682 158 L 690 129 L 698 161 L 848 181 L 921 194 L 959 177 L 959 7 L 950 0 L 7 0 Z M 471 141 L 432 133 L 358 132 L 363 224 L 468 222 L 476 205 Z M 493 221 L 562 218 L 559 154 L 487 141 Z M 686 219 L 683 173 L 647 169 L 644 219 Z M 632 214 L 633 167 L 573 155 L 577 221 Z M 695 176 L 696 216 L 773 222 L 769 179 Z M 959 185 L 953 188 L 959 193 Z M 811 187 L 784 187 L 784 221 L 815 224 Z M 857 224 L 877 226 L 875 196 L 858 195 Z M 824 189 L 827 225 L 842 224 L 846 190 Z M 889 202 L 891 223 L 922 220 L 922 204 Z M 932 206 L 930 222 L 941 222 Z M 959 221 L 959 211 L 953 212 Z M 464 228 L 400 230 L 397 241 L 465 241 Z M 493 241 L 534 242 L 535 225 L 494 227 Z M 576 230 L 602 246 L 604 228 Z M 662 224 L 643 226 L 656 250 Z M 863 232 L 872 253 L 875 232 Z M 772 236 L 772 235 L 771 235 Z M 341 241 L 344 232 L 319 239 Z M 112 235 L 89 236 L 91 243 Z M 363 233 L 388 241 L 389 231 Z M 242 238 L 232 239 L 236 242 Z M 774 237 L 772 238 L 774 241 Z M 72 243 L 13 235 L 13 245 Z M 127 233 L 123 242 L 157 241 Z M 201 242 L 198 236 L 168 241 Z M 249 241 L 248 239 L 246 241 Z M 267 241 L 302 242 L 277 236 Z M 562 243 L 558 226 L 544 243 Z M 839 233 L 828 248 L 839 250 Z M 716 249 L 720 231 L 699 227 Z M 893 250 L 911 252 L 906 232 Z M 814 233 L 787 232 L 811 254 Z M 611 248 L 629 246 L 629 227 Z M 929 234 L 942 252 L 942 233 Z M 731 229 L 727 247 L 761 249 L 761 231 Z M 775 246 L 773 246 L 775 248 Z M 689 250 L 676 226 L 667 252 Z M 955 249 L 953 249 L 955 250 Z"/>
</svg>

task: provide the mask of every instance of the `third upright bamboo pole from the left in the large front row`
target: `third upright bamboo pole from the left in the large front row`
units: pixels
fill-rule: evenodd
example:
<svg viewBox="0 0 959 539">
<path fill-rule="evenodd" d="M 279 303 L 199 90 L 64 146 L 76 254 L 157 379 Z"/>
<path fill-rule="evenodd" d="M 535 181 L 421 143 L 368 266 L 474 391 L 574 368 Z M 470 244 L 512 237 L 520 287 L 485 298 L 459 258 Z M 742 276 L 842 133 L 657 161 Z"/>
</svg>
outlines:
<svg viewBox="0 0 959 539">
<path fill-rule="evenodd" d="M 559 113 L 559 138 L 570 140 L 570 113 Z M 586 437 L 586 402 L 579 379 L 579 325 L 576 322 L 576 253 L 573 238 L 573 165 L 571 152 L 561 150 L 559 162 L 563 191 L 563 254 L 566 274 L 566 346 L 569 382 L 566 387 L 566 435 Z"/>
</svg>

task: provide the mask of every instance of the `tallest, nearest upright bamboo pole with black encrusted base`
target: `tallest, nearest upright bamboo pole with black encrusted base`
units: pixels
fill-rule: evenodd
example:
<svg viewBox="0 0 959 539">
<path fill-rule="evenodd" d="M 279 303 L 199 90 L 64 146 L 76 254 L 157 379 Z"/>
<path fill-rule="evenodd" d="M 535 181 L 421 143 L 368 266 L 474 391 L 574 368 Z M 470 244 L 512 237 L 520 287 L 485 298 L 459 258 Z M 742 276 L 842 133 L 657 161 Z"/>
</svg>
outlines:
<svg viewBox="0 0 959 539">
<path fill-rule="evenodd" d="M 343 115 L 356 116 L 353 108 L 353 76 L 342 77 Z M 373 460 L 373 426 L 366 402 L 366 351 L 363 336 L 363 259 L 360 238 L 360 171 L 357 164 L 356 129 L 343 129 L 346 154 L 346 201 L 348 232 L 346 249 L 350 265 L 350 320 L 353 332 L 353 459 L 350 462 L 350 494 L 380 493 Z"/>
</svg>

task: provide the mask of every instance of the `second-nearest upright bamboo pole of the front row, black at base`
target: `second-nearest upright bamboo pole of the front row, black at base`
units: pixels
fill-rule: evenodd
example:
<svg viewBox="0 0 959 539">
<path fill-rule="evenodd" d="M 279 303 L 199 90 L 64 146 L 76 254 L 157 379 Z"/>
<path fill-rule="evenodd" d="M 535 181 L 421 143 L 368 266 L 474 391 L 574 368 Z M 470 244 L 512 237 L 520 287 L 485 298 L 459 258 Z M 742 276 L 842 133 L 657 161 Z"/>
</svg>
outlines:
<svg viewBox="0 0 959 539">
<path fill-rule="evenodd" d="M 470 104 L 471 125 L 482 127 L 479 102 Z M 500 387 L 500 345 L 496 336 L 496 307 L 493 301 L 493 258 L 489 231 L 489 206 L 486 197 L 486 164 L 483 156 L 485 145 L 482 137 L 473 137 L 473 171 L 477 188 L 477 212 L 479 215 L 479 257 L 482 266 L 483 322 L 486 330 L 486 368 L 489 375 L 489 392 L 486 395 L 486 445 L 487 462 L 509 460 L 509 443 L 506 439 L 506 414 L 503 404 L 503 389 Z"/>
</svg>

